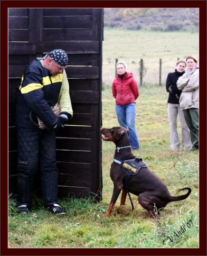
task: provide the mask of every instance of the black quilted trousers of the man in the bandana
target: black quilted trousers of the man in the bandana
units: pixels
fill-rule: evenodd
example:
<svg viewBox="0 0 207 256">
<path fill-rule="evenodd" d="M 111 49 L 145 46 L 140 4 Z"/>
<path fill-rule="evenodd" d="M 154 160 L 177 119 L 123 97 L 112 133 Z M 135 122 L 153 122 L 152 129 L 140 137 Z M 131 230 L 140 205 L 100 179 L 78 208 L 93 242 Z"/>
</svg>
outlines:
<svg viewBox="0 0 207 256">
<path fill-rule="evenodd" d="M 57 203 L 58 169 L 55 131 L 17 126 L 17 206 L 31 206 L 35 177 L 41 173 L 44 205 Z"/>
</svg>

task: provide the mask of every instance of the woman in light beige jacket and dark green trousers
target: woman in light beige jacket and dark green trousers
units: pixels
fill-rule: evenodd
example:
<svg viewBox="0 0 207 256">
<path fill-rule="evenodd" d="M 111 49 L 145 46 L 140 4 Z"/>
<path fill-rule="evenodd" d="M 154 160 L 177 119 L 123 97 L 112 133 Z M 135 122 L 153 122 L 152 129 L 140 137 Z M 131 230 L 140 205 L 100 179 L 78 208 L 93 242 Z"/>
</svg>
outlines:
<svg viewBox="0 0 207 256">
<path fill-rule="evenodd" d="M 180 106 L 191 134 L 192 150 L 199 149 L 199 68 L 194 55 L 187 56 L 187 72 L 177 80 L 182 90 Z"/>
</svg>

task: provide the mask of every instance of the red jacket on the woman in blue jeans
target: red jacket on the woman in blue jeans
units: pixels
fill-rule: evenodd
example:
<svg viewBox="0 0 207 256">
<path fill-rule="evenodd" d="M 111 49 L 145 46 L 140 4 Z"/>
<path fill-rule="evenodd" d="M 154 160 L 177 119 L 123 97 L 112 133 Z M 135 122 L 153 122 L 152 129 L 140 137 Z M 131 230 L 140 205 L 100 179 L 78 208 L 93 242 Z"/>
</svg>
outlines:
<svg viewBox="0 0 207 256">
<path fill-rule="evenodd" d="M 123 77 L 117 75 L 112 83 L 112 95 L 115 97 L 117 105 L 124 106 L 135 103 L 139 96 L 139 89 L 133 73 L 126 72 Z"/>
</svg>

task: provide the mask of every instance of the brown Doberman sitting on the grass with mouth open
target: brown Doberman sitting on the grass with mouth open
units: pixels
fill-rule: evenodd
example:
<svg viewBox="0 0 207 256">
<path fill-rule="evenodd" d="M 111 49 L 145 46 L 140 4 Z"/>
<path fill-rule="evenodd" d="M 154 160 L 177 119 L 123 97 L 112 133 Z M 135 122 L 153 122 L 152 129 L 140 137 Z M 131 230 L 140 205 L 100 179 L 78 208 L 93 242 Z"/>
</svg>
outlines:
<svg viewBox="0 0 207 256">
<path fill-rule="evenodd" d="M 184 200 L 191 194 L 191 188 L 184 187 L 178 191 L 187 189 L 188 192 L 181 196 L 171 196 L 164 182 L 159 179 L 147 166 L 142 166 L 142 159 L 138 159 L 131 152 L 128 131 L 122 127 L 112 127 L 111 129 L 101 128 L 102 140 L 112 141 L 116 145 L 114 162 L 111 164 L 110 177 L 114 182 L 114 191 L 112 194 L 111 202 L 109 204 L 107 213 L 104 216 L 109 215 L 115 206 L 117 198 L 120 194 L 121 189 L 123 189 L 121 194 L 120 205 L 124 205 L 126 201 L 127 192 L 130 192 L 138 196 L 138 202 L 154 217 L 159 214 L 168 203 Z M 126 162 L 126 160 L 133 159 L 132 165 Z M 140 164 L 139 171 L 135 174 L 135 169 L 133 166 Z M 123 164 L 127 166 L 128 169 L 123 169 Z M 126 188 L 126 172 L 129 169 L 133 170 L 134 173 L 130 177 L 128 176 L 127 188 Z M 126 171 L 127 170 L 127 171 Z M 123 185 L 125 183 L 125 188 Z M 156 208 L 155 208 L 156 207 Z"/>
</svg>

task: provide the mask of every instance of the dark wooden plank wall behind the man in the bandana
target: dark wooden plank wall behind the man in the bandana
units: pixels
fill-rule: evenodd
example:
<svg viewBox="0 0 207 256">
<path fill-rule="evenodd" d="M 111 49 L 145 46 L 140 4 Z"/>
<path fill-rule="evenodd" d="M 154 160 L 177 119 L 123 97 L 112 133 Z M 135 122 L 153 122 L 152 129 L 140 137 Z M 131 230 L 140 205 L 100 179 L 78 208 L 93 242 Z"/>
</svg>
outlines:
<svg viewBox="0 0 207 256">
<path fill-rule="evenodd" d="M 73 118 L 56 133 L 59 197 L 102 199 L 103 20 L 102 8 L 8 8 L 9 194 L 16 193 L 16 86 L 35 57 L 63 49 Z"/>
</svg>

